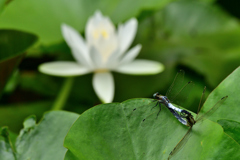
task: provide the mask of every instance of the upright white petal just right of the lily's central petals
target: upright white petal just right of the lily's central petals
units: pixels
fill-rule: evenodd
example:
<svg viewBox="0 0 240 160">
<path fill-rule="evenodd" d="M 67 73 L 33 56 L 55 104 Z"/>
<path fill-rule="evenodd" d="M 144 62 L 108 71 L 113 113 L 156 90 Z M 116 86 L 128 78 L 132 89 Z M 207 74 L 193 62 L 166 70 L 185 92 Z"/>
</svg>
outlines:
<svg viewBox="0 0 240 160">
<path fill-rule="evenodd" d="M 118 38 L 121 53 L 124 53 L 132 44 L 132 41 L 137 32 L 137 25 L 138 22 L 135 18 L 128 20 L 124 25 L 119 25 Z"/>
</svg>

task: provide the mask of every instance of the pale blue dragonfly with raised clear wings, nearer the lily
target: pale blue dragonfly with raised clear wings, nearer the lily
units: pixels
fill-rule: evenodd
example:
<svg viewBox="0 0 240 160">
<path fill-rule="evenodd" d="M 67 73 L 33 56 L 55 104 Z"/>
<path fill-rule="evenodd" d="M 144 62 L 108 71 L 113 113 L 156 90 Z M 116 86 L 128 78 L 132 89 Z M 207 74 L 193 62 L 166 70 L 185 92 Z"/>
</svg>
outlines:
<svg viewBox="0 0 240 160">
<path fill-rule="evenodd" d="M 187 117 L 187 115 L 189 114 L 189 112 L 187 111 L 183 111 L 182 109 L 175 107 L 172 103 L 173 102 L 178 102 L 178 96 L 179 95 L 185 95 L 184 98 L 179 98 L 181 100 L 181 102 L 186 101 L 187 96 L 192 87 L 193 87 L 193 82 L 189 81 L 187 83 L 184 83 L 184 74 L 185 72 L 183 70 L 180 70 L 177 75 L 175 76 L 171 86 L 169 87 L 166 96 L 163 96 L 161 94 L 159 94 L 158 92 L 153 94 L 153 102 L 151 104 L 148 104 L 149 106 L 153 105 L 153 107 L 151 107 L 151 109 L 155 108 L 156 106 L 159 106 L 159 111 L 157 113 L 156 118 L 158 117 L 160 111 L 161 111 L 161 104 L 163 104 L 164 106 L 166 106 L 168 108 L 168 110 L 175 116 L 175 118 L 177 118 L 177 120 L 184 124 L 187 125 L 188 121 L 185 120 L 184 118 Z M 133 109 L 133 111 L 135 111 L 137 108 Z M 156 113 L 156 112 L 154 112 Z M 152 113 L 152 114 L 154 114 Z M 142 120 L 142 123 L 146 122 L 146 119 L 148 119 L 152 114 L 150 114 L 149 116 L 147 116 L 147 118 Z"/>
</svg>

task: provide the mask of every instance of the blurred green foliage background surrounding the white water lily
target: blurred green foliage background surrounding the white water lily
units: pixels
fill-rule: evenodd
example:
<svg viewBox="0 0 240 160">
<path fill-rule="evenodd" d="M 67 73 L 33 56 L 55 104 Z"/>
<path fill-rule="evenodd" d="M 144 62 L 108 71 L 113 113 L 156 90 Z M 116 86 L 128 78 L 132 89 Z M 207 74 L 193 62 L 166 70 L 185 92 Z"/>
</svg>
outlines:
<svg viewBox="0 0 240 160">
<path fill-rule="evenodd" d="M 114 102 L 152 97 L 157 91 L 165 94 L 177 71 L 183 69 L 186 80 L 195 83 L 184 107 L 196 111 L 203 87 L 207 86 L 210 93 L 240 64 L 240 11 L 236 3 L 239 2 L 1 0 L 1 90 L 8 81 L 0 99 L 0 126 L 7 125 L 18 132 L 25 117 L 35 114 L 40 119 L 51 109 L 64 78 L 39 73 L 38 65 L 73 60 L 60 25 L 69 24 L 84 34 L 87 19 L 97 9 L 116 26 L 136 17 L 139 26 L 132 45 L 143 46 L 137 58 L 157 60 L 165 65 L 158 75 L 113 73 Z M 64 109 L 82 113 L 99 103 L 92 88 L 92 74 L 88 74 L 74 79 Z"/>
</svg>

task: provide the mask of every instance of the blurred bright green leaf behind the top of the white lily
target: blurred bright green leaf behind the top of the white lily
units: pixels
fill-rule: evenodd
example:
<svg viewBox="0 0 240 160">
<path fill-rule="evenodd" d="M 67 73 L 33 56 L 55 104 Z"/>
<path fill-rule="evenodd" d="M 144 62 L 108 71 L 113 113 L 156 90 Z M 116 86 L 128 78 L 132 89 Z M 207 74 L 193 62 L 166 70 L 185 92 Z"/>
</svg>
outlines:
<svg viewBox="0 0 240 160">
<path fill-rule="evenodd" d="M 62 40 L 62 23 L 83 31 L 87 19 L 97 9 L 119 23 L 137 16 L 143 8 L 162 8 L 170 1 L 172 0 L 17 0 L 5 8 L 0 17 L 0 28 L 34 33 L 41 42 L 48 44 Z"/>
</svg>

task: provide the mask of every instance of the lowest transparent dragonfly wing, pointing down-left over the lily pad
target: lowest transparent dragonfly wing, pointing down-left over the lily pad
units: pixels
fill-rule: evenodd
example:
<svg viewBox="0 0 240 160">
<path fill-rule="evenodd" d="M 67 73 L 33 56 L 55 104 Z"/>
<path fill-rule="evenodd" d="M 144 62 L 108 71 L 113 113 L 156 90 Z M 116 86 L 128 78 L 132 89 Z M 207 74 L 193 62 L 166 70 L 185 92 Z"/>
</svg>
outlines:
<svg viewBox="0 0 240 160">
<path fill-rule="evenodd" d="M 177 152 L 179 152 L 185 146 L 185 144 L 187 143 L 188 139 L 191 137 L 191 130 L 192 130 L 192 127 L 189 128 L 189 130 L 184 135 L 184 137 L 173 148 L 173 150 L 171 151 L 171 153 L 168 156 L 168 160 L 170 160 L 170 158 L 172 158 L 174 155 L 176 155 Z"/>
</svg>

